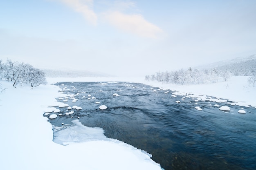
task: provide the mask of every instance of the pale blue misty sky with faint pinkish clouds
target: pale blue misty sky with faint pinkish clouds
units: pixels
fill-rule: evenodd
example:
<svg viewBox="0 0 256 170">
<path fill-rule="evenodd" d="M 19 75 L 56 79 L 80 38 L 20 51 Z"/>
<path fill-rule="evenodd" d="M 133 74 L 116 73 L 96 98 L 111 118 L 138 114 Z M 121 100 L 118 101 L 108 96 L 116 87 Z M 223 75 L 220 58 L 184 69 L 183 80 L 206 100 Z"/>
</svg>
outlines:
<svg viewBox="0 0 256 170">
<path fill-rule="evenodd" d="M 0 0 L 0 59 L 144 76 L 256 54 L 255 0 Z"/>
</svg>

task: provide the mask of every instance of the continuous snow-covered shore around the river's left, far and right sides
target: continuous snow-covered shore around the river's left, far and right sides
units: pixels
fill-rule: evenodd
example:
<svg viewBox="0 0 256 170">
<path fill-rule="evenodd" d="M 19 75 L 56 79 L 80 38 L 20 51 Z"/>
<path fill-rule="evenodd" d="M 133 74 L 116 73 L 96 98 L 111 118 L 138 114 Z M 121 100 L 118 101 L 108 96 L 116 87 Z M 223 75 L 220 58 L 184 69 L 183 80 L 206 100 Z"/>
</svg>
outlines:
<svg viewBox="0 0 256 170">
<path fill-rule="evenodd" d="M 216 84 L 176 86 L 158 82 L 145 82 L 143 78 L 84 77 L 47 78 L 48 85 L 36 88 L 13 88 L 1 81 L 5 91 L 0 94 L 0 169 L 2 170 L 160 170 L 150 157 L 124 142 L 88 141 L 62 146 L 52 141 L 52 125 L 43 117 L 47 106 L 56 103 L 59 87 L 55 82 L 109 82 L 126 81 L 150 84 L 163 89 L 184 93 L 211 95 L 256 106 L 256 88 L 248 86 L 248 77 L 231 77 Z"/>
</svg>

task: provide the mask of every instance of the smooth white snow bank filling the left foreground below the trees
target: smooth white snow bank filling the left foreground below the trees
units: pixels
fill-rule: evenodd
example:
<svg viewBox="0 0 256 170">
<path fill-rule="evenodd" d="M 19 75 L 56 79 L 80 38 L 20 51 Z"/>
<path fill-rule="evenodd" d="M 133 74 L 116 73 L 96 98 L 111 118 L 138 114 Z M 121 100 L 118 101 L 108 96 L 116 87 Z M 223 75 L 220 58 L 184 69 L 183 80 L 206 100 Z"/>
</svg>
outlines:
<svg viewBox="0 0 256 170">
<path fill-rule="evenodd" d="M 53 110 L 47 107 L 60 97 L 60 88 L 40 85 L 31 90 L 13 88 L 10 82 L 0 83 L 7 88 L 0 95 L 0 114 L 13 115 L 0 124 L 1 170 L 161 170 L 149 154 L 115 139 L 70 142 L 67 146 L 54 143 L 53 127 L 43 113 Z M 26 100 L 21 100 L 24 96 Z M 58 155 L 70 160 L 57 160 Z"/>
</svg>

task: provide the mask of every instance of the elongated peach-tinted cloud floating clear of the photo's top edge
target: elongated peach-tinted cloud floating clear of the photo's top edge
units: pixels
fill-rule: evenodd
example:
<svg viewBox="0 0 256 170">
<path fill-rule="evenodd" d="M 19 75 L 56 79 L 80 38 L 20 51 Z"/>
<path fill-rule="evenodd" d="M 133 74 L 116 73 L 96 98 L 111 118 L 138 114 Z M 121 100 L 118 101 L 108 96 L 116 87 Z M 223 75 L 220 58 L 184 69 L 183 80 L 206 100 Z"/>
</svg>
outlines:
<svg viewBox="0 0 256 170">
<path fill-rule="evenodd" d="M 148 38 L 157 38 L 162 29 L 146 21 L 139 14 L 124 14 L 119 11 L 105 13 L 106 20 L 122 31 Z"/>
</svg>

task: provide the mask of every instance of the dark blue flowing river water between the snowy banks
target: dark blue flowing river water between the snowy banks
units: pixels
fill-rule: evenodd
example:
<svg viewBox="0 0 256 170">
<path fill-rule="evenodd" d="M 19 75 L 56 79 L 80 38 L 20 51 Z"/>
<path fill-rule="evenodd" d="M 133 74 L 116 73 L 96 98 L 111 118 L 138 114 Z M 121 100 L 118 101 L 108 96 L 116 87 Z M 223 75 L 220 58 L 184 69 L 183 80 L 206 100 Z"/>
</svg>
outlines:
<svg viewBox="0 0 256 170">
<path fill-rule="evenodd" d="M 56 85 L 65 94 L 79 93 L 75 96 L 76 102 L 69 99 L 65 103 L 82 109 L 75 110 L 71 118 L 65 115 L 67 107 L 60 108 L 63 115 L 49 119 L 54 126 L 72 124 L 71 121 L 79 117 L 85 126 L 102 128 L 106 137 L 152 154 L 152 159 L 165 170 L 256 169 L 255 108 L 208 100 L 195 102 L 196 97 L 173 97 L 171 90 L 164 93 L 167 90 L 136 83 Z M 114 93 L 120 96 L 113 96 Z M 176 103 L 177 100 L 180 103 Z M 215 104 L 229 106 L 231 110 L 221 111 Z M 100 110 L 100 105 L 108 108 Z M 202 110 L 196 110 L 196 106 Z M 246 114 L 238 113 L 241 107 Z"/>
</svg>

